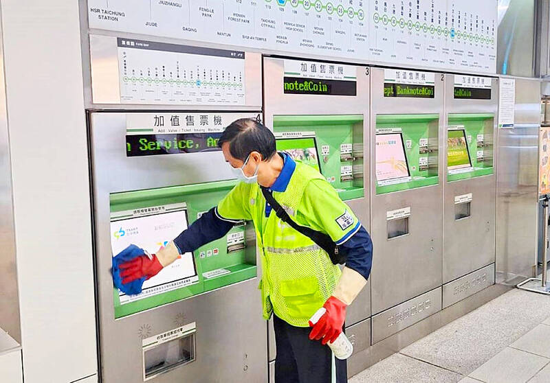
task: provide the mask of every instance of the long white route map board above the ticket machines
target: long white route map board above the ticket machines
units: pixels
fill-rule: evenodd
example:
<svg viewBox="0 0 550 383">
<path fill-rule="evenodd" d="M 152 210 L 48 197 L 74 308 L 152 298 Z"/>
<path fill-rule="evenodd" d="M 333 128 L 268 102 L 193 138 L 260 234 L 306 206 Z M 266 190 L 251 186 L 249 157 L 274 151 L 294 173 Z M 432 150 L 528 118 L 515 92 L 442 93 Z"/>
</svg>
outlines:
<svg viewBox="0 0 550 383">
<path fill-rule="evenodd" d="M 88 14 L 100 30 L 496 72 L 496 0 L 89 0 Z"/>
</svg>

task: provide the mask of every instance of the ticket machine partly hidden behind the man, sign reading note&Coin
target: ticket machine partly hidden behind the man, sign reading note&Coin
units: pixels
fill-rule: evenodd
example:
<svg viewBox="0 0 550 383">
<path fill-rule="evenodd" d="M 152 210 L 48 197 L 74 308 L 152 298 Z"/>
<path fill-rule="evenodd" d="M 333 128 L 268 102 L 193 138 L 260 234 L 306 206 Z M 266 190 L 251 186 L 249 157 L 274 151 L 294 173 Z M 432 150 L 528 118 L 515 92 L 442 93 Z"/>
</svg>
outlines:
<svg viewBox="0 0 550 383">
<path fill-rule="evenodd" d="M 319 170 L 369 230 L 369 68 L 282 58 L 264 58 L 263 68 L 265 124 L 277 149 Z M 349 375 L 364 368 L 359 354 L 370 344 L 370 316 L 367 283 L 347 314 Z M 272 374 L 272 330 L 269 338 Z"/>
</svg>

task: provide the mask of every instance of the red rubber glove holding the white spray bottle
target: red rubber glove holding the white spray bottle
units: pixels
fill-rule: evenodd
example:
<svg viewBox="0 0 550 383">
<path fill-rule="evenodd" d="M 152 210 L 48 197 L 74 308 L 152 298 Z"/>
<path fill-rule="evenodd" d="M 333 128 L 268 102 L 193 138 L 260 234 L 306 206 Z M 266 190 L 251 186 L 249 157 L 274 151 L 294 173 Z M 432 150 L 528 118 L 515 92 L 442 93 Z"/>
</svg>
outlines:
<svg viewBox="0 0 550 383">
<path fill-rule="evenodd" d="M 321 343 L 326 345 L 327 342 L 333 343 L 342 332 L 344 321 L 346 321 L 347 304 L 336 297 L 329 297 L 322 307 L 325 307 L 327 312 L 320 317 L 315 325 L 311 321 L 309 322 L 309 326 L 313 327 L 309 333 L 309 339 L 319 340 L 322 338 Z"/>
</svg>

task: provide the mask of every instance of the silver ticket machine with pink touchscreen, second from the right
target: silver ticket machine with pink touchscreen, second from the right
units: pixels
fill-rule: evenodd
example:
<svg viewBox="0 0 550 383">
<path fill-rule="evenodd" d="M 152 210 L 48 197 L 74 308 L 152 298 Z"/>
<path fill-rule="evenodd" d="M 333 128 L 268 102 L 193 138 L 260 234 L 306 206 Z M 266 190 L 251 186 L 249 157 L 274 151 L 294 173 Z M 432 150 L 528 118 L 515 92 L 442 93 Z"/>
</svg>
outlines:
<svg viewBox="0 0 550 383">
<path fill-rule="evenodd" d="M 441 310 L 443 82 L 372 69 L 373 344 Z"/>
</svg>

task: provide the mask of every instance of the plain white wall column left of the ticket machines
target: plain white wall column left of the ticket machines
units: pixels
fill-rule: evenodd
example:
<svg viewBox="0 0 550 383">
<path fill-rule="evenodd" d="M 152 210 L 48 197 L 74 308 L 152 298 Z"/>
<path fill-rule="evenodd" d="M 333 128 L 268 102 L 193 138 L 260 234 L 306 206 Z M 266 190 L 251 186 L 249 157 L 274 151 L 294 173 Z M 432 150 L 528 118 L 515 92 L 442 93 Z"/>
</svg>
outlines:
<svg viewBox="0 0 550 383">
<path fill-rule="evenodd" d="M 78 3 L 0 3 L 25 383 L 97 371 Z"/>
</svg>

